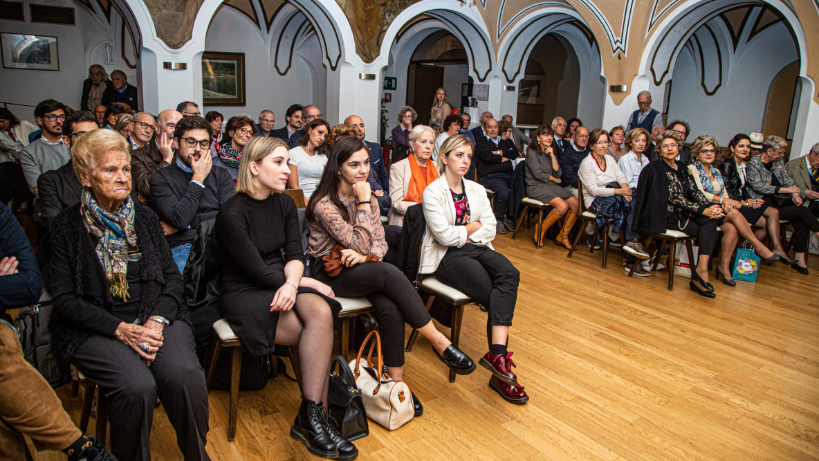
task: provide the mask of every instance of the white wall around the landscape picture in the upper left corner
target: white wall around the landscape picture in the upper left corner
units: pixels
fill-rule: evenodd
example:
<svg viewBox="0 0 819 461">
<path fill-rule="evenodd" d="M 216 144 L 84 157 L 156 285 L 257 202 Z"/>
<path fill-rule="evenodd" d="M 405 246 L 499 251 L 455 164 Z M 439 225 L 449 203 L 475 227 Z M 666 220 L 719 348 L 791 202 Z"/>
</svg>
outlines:
<svg viewBox="0 0 819 461">
<path fill-rule="evenodd" d="M 0 21 L 0 30 L 11 34 L 34 34 L 57 37 L 57 54 L 60 59 L 59 71 L 28 71 L 23 69 L 0 68 L 0 102 L 9 103 L 8 108 L 20 119 L 34 121 L 34 107 L 44 99 L 53 98 L 61 103 L 79 109 L 83 80 L 88 78 L 88 66 L 102 64 L 110 74 L 120 69 L 128 75 L 129 83 L 138 86 L 138 71 L 130 69 L 120 55 L 119 29 L 102 25 L 88 8 L 71 0 L 46 0 L 34 2 L 58 7 L 73 7 L 76 25 L 52 25 L 31 23 L 29 2 L 25 0 L 25 22 Z M 120 18 L 114 12 L 117 24 Z M 120 25 L 121 26 L 121 25 Z M 126 34 L 126 37 L 128 35 Z M 104 65 L 102 43 L 116 43 L 114 64 Z M 133 62 L 132 62 L 133 63 Z"/>
</svg>

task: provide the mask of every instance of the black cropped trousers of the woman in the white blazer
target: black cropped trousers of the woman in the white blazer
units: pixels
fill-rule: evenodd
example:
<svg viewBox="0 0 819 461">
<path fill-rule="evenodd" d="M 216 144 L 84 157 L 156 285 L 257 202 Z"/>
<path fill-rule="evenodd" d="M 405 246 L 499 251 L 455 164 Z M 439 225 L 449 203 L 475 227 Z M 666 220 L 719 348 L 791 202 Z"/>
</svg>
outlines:
<svg viewBox="0 0 819 461">
<path fill-rule="evenodd" d="M 489 345 L 492 345 L 492 325 L 512 325 L 520 272 L 504 255 L 476 244 L 450 247 L 435 275 L 489 309 L 486 317 Z"/>
</svg>

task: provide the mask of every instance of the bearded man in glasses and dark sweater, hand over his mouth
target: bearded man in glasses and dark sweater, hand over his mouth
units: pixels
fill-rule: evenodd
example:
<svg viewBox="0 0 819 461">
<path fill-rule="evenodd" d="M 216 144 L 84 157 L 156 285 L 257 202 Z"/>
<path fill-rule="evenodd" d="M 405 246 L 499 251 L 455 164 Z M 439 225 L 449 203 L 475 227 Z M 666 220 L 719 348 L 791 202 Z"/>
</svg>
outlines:
<svg viewBox="0 0 819 461">
<path fill-rule="evenodd" d="M 165 239 L 179 272 L 184 272 L 202 221 L 216 217 L 219 207 L 236 194 L 224 168 L 213 168 L 210 123 L 201 116 L 186 116 L 176 123 L 177 150 L 170 167 L 151 175 L 153 208 L 165 223 Z"/>
</svg>

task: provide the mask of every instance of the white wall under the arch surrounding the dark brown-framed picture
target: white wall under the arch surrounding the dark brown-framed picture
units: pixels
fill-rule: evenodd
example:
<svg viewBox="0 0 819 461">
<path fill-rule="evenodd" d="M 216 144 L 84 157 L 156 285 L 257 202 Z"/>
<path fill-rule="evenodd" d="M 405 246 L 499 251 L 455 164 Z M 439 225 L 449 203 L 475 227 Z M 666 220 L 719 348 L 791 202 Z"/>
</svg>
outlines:
<svg viewBox="0 0 819 461">
<path fill-rule="evenodd" d="M 296 48 L 287 75 L 278 75 L 274 66 L 275 44 L 273 47 L 273 50 L 269 48 L 259 29 L 247 16 L 230 7 L 219 10 L 207 31 L 205 49 L 245 53 L 247 105 L 205 106 L 202 114 L 218 111 L 225 116 L 225 120 L 248 114 L 256 120 L 259 112 L 270 109 L 276 115 L 275 128 L 278 129 L 286 123 L 284 115 L 292 104 L 315 104 L 326 112 L 327 71 L 322 66 L 321 48 L 315 35 Z"/>
</svg>

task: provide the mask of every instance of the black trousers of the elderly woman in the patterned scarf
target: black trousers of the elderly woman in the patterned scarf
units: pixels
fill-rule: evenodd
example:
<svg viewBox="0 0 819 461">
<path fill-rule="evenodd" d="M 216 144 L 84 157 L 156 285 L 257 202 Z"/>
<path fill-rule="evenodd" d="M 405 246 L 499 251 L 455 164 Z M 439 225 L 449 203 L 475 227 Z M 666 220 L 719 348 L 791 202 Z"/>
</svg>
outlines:
<svg viewBox="0 0 819 461">
<path fill-rule="evenodd" d="M 163 345 L 147 367 L 120 340 L 92 335 L 77 348 L 74 364 L 108 399 L 111 452 L 120 461 L 151 459 L 151 426 L 156 397 L 176 431 L 186 460 L 210 459 L 205 450 L 208 403 L 205 371 L 199 365 L 191 327 L 174 322 L 162 332 Z"/>
</svg>

